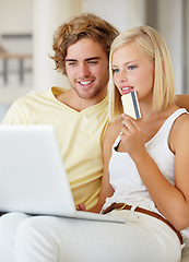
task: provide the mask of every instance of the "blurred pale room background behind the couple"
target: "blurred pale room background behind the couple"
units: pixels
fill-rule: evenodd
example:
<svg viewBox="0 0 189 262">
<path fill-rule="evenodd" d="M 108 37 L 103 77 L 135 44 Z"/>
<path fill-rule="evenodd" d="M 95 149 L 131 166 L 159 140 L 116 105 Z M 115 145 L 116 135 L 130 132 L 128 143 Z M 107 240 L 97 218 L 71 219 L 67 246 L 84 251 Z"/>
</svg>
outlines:
<svg viewBox="0 0 189 262">
<path fill-rule="evenodd" d="M 22 95 L 52 85 L 69 88 L 48 55 L 57 26 L 82 12 L 120 32 L 143 24 L 156 28 L 170 51 L 176 93 L 189 93 L 189 0 L 0 0 L 0 121 Z"/>
</svg>

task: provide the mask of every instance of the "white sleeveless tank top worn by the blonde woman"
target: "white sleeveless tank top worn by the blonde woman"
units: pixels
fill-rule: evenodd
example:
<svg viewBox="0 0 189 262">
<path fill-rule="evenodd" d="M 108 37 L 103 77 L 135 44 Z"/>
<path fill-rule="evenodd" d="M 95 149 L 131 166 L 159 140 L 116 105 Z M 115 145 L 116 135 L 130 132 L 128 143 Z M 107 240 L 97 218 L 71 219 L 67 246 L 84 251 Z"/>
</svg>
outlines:
<svg viewBox="0 0 189 262">
<path fill-rule="evenodd" d="M 180 108 L 170 115 L 157 133 L 145 143 L 147 153 L 155 160 L 164 177 L 174 186 L 175 155 L 169 150 L 168 139 L 175 120 L 186 112 L 186 109 Z M 113 145 L 113 154 L 109 162 L 109 181 L 115 193 L 111 198 L 106 199 L 103 210 L 114 202 L 121 202 L 161 214 L 142 182 L 132 158 L 128 153 L 117 152 L 115 150 L 119 142 L 120 135 L 116 139 Z M 187 229 L 187 231 L 186 234 L 189 237 L 189 230 Z"/>
</svg>

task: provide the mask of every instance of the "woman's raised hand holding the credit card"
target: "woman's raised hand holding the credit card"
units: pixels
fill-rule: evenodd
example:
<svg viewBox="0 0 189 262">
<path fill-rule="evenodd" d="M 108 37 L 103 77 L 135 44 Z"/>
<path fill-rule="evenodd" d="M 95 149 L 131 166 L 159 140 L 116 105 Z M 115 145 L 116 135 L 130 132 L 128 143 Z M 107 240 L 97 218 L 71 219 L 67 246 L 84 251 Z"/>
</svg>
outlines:
<svg viewBox="0 0 189 262">
<path fill-rule="evenodd" d="M 122 114 L 122 128 L 120 139 L 126 152 L 134 158 L 145 151 L 143 132 L 137 120 Z"/>
</svg>

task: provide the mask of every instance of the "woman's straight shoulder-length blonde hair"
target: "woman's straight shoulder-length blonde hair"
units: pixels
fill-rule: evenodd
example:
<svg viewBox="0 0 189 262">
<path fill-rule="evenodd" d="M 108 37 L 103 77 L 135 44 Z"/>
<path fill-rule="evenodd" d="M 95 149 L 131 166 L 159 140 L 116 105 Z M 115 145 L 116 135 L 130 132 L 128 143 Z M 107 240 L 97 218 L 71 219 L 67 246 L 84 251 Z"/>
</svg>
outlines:
<svg viewBox="0 0 189 262">
<path fill-rule="evenodd" d="M 144 25 L 129 29 L 115 38 L 109 55 L 109 119 L 115 121 L 122 114 L 121 95 L 114 84 L 111 61 L 115 51 L 126 44 L 133 43 L 149 59 L 154 61 L 154 111 L 175 103 L 175 79 L 167 46 L 157 31 Z"/>
</svg>

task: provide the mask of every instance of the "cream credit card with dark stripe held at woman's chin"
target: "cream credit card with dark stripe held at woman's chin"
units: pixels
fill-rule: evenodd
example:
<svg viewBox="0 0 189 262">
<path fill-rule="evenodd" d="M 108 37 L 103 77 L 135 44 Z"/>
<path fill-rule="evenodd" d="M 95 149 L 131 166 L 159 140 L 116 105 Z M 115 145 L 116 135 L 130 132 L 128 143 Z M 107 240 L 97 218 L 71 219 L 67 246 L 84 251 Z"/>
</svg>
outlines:
<svg viewBox="0 0 189 262">
<path fill-rule="evenodd" d="M 139 102 L 135 91 L 121 96 L 123 111 L 126 115 L 132 117 L 133 119 L 141 118 L 141 111 L 139 108 Z"/>
</svg>

